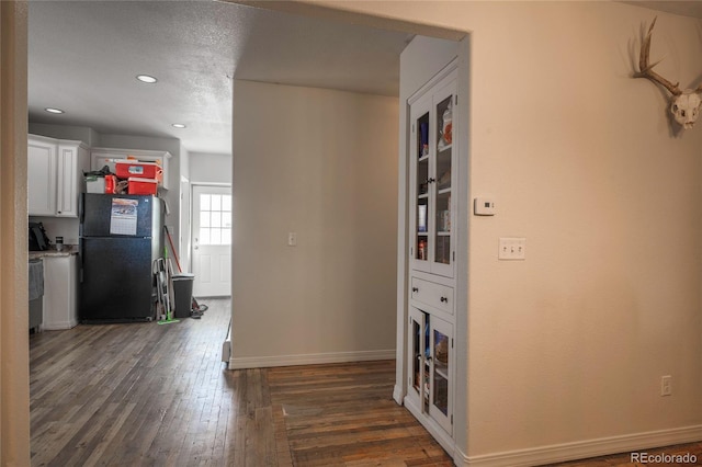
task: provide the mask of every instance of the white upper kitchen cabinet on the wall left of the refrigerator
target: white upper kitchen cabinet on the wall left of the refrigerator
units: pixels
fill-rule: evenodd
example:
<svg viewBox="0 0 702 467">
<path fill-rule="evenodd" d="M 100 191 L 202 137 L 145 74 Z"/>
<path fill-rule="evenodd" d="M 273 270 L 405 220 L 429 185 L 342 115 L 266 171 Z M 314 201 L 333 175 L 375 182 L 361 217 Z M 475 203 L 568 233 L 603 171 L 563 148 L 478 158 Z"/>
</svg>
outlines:
<svg viewBox="0 0 702 467">
<path fill-rule="evenodd" d="M 89 150 L 81 141 L 27 137 L 27 209 L 30 216 L 78 217 L 84 191 L 82 172 Z"/>
</svg>

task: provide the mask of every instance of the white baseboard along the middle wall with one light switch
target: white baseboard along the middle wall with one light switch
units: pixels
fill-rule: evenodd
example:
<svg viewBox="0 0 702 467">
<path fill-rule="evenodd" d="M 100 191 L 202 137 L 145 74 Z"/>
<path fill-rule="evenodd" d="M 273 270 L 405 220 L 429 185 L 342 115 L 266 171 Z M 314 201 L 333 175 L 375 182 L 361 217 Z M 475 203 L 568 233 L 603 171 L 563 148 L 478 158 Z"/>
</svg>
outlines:
<svg viewBox="0 0 702 467">
<path fill-rule="evenodd" d="M 322 363 L 366 362 L 394 360 L 395 349 L 358 352 L 307 353 L 299 355 L 231 357 L 229 369 L 264 368 L 271 366 L 318 365 Z"/>
</svg>

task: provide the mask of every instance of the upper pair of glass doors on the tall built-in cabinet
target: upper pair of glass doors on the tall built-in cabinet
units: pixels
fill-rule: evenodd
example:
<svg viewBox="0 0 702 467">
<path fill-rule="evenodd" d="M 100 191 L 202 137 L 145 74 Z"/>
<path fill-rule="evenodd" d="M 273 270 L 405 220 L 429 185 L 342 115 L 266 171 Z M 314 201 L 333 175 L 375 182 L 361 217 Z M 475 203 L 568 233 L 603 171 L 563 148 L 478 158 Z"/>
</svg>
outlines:
<svg viewBox="0 0 702 467">
<path fill-rule="evenodd" d="M 410 263 L 417 271 L 454 275 L 455 80 L 450 76 L 435 92 L 411 105 Z"/>
</svg>

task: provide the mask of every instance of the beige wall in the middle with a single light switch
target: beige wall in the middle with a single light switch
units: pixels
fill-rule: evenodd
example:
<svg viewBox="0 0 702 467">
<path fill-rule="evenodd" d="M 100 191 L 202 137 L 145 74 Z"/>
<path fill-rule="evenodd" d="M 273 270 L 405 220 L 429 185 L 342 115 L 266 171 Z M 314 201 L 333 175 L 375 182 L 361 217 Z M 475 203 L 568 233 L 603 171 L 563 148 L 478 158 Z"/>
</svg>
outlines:
<svg viewBox="0 0 702 467">
<path fill-rule="evenodd" d="M 392 357 L 397 99 L 249 81 L 234 91 L 235 364 Z"/>
</svg>

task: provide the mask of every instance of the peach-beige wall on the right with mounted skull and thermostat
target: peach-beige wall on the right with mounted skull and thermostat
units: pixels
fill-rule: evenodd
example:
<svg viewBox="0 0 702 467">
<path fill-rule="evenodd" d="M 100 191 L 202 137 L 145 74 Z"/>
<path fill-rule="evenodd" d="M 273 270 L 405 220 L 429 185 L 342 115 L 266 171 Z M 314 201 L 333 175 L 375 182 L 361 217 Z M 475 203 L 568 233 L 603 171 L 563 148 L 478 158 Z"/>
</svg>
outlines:
<svg viewBox="0 0 702 467">
<path fill-rule="evenodd" d="M 678 133 L 632 79 L 657 14 L 657 70 L 697 84 L 701 22 L 618 2 L 343 8 L 471 32 L 469 198 L 498 214 L 468 226 L 467 457 L 702 438 L 702 129 Z M 526 261 L 497 260 L 510 236 Z"/>
</svg>

